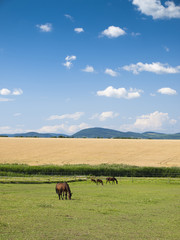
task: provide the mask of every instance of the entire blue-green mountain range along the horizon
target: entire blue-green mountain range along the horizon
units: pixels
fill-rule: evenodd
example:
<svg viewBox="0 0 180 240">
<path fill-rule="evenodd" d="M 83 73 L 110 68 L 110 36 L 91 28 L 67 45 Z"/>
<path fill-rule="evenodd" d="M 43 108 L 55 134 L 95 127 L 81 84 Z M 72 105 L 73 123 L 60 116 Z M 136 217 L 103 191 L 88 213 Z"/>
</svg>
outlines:
<svg viewBox="0 0 180 240">
<path fill-rule="evenodd" d="M 16 134 L 0 134 L 0 137 L 38 137 L 38 138 L 134 138 L 134 139 L 180 139 L 180 133 L 165 134 L 157 132 L 120 132 L 107 128 L 87 128 L 73 135 L 57 134 L 57 133 L 16 133 Z"/>
</svg>

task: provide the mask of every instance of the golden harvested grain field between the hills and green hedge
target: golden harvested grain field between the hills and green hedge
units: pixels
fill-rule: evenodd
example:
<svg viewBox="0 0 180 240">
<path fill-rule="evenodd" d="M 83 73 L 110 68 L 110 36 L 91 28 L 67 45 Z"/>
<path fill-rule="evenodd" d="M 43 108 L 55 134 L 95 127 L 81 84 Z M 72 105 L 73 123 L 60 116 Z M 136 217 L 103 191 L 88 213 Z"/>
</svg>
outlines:
<svg viewBox="0 0 180 240">
<path fill-rule="evenodd" d="M 180 167 L 180 140 L 0 138 L 0 163 Z"/>
</svg>

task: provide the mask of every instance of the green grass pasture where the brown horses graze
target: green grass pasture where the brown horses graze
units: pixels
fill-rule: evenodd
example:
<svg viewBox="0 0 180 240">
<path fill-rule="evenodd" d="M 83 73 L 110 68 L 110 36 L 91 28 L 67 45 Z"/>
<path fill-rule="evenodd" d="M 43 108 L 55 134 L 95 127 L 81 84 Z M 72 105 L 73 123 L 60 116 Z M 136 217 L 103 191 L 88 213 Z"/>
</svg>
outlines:
<svg viewBox="0 0 180 240">
<path fill-rule="evenodd" d="M 0 184 L 1 240 L 179 240 L 180 184 L 121 179 L 118 185 Z"/>
</svg>

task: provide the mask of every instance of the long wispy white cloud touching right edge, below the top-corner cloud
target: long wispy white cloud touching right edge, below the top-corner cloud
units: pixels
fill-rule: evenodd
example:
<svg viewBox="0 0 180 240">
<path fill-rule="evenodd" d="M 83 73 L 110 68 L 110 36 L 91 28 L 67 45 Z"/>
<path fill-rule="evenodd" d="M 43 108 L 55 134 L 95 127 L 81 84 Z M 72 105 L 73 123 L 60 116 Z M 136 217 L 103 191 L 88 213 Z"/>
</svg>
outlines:
<svg viewBox="0 0 180 240">
<path fill-rule="evenodd" d="M 170 74 L 170 73 L 179 73 L 180 66 L 171 67 L 169 64 L 160 63 L 160 62 L 153 62 L 151 64 L 138 62 L 137 64 L 130 64 L 123 67 L 126 71 L 132 71 L 134 74 L 138 74 L 140 72 L 153 72 L 156 74 Z"/>
</svg>

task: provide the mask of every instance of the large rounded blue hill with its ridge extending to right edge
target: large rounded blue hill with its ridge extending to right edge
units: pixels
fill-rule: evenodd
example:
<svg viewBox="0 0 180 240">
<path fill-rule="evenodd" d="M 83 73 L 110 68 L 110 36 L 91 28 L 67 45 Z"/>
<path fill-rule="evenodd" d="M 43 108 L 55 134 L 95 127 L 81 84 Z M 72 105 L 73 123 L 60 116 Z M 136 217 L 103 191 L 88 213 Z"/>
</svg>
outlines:
<svg viewBox="0 0 180 240">
<path fill-rule="evenodd" d="M 142 138 L 142 139 L 180 139 L 180 133 L 164 134 L 156 132 L 120 132 L 107 128 L 87 128 L 74 135 L 74 138 Z"/>
</svg>

